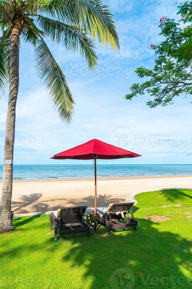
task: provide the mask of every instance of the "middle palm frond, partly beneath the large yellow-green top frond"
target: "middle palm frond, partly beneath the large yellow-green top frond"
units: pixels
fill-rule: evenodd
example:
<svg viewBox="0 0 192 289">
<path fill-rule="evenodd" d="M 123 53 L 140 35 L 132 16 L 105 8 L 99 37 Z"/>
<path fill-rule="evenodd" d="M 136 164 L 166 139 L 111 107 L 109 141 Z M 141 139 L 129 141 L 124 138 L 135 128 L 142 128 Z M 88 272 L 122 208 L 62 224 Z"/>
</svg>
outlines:
<svg viewBox="0 0 192 289">
<path fill-rule="evenodd" d="M 85 56 L 89 68 L 95 68 L 98 60 L 95 43 L 82 29 L 43 16 L 37 17 L 37 23 L 52 41 L 60 43 L 62 40 L 66 50 L 80 51 L 81 55 Z"/>
</svg>

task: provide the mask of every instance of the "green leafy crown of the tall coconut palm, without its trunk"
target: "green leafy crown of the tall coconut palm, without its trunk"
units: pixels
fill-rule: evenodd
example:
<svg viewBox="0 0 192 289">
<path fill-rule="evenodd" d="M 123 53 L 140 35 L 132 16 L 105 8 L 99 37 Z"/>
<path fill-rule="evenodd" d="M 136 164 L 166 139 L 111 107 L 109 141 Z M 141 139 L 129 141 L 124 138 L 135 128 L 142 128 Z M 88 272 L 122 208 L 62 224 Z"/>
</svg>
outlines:
<svg viewBox="0 0 192 289">
<path fill-rule="evenodd" d="M 58 110 L 70 123 L 74 100 L 65 75 L 45 40 L 62 42 L 66 50 L 80 51 L 92 70 L 97 65 L 95 41 L 119 50 L 113 14 L 100 0 L 0 0 L 0 93 L 9 83 L 11 35 L 19 27 L 22 44 L 33 45 L 38 75 Z"/>
</svg>

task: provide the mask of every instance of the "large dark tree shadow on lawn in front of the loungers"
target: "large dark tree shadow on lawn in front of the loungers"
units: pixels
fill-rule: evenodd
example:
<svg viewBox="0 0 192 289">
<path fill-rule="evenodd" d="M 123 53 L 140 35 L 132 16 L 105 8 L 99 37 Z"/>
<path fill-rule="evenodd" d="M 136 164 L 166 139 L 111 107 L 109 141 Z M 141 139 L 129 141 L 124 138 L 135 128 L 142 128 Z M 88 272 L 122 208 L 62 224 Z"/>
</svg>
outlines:
<svg viewBox="0 0 192 289">
<path fill-rule="evenodd" d="M 142 219 L 137 231 L 124 229 L 107 236 L 106 229 L 101 228 L 87 239 L 87 245 L 82 238 L 71 238 L 72 247 L 61 259 L 63 263 L 70 261 L 72 267 L 83 264 L 83 277 L 92 279 L 91 288 L 133 288 L 133 283 L 134 288 L 192 286 L 181 269 L 190 270 L 189 240 L 160 232 L 154 222 Z"/>
</svg>

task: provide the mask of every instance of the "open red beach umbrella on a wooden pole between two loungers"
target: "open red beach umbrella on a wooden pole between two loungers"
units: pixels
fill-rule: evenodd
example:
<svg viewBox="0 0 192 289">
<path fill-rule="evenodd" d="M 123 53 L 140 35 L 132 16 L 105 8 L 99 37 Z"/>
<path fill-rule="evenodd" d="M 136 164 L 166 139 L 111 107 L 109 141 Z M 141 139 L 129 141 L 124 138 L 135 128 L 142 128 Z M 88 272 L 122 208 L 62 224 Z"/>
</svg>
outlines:
<svg viewBox="0 0 192 289">
<path fill-rule="evenodd" d="M 141 155 L 129 152 L 128 150 L 115 147 L 112 144 L 107 144 L 99 139 L 91 139 L 84 144 L 80 144 L 72 149 L 65 150 L 54 155 L 51 159 L 57 160 L 95 160 L 95 211 L 94 217 L 97 216 L 97 174 L 96 174 L 96 159 L 112 160 L 121 158 L 140 157 Z M 96 221 L 96 218 L 95 218 Z"/>
</svg>

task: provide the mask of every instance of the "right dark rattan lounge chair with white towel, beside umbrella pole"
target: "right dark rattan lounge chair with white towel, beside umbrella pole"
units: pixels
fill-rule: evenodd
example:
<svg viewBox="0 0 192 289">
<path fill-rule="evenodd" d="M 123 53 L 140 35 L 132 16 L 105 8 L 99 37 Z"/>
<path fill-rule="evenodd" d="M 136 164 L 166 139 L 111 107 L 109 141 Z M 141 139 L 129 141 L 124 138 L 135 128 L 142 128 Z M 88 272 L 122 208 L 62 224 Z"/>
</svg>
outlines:
<svg viewBox="0 0 192 289">
<path fill-rule="evenodd" d="M 138 222 L 134 219 L 133 212 L 130 210 L 133 205 L 134 203 L 114 203 L 110 204 L 105 211 L 97 209 L 97 221 L 107 227 L 107 234 L 110 234 L 110 228 L 117 230 L 133 227 L 136 230 Z M 129 213 L 131 213 L 131 218 Z"/>
</svg>

